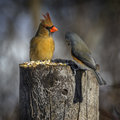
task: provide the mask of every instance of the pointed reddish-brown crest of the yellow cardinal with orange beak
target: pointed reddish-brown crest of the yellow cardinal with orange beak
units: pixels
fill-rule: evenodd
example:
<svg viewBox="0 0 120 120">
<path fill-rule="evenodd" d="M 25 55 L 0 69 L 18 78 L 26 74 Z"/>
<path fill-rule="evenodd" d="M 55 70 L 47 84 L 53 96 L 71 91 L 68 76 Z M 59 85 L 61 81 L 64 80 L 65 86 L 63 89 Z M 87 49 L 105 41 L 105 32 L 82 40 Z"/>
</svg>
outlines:
<svg viewBox="0 0 120 120">
<path fill-rule="evenodd" d="M 45 27 L 52 26 L 53 23 L 51 21 L 49 13 L 47 12 L 46 14 L 42 14 L 42 15 L 43 15 L 44 19 L 41 19 L 41 24 L 44 25 Z"/>
</svg>

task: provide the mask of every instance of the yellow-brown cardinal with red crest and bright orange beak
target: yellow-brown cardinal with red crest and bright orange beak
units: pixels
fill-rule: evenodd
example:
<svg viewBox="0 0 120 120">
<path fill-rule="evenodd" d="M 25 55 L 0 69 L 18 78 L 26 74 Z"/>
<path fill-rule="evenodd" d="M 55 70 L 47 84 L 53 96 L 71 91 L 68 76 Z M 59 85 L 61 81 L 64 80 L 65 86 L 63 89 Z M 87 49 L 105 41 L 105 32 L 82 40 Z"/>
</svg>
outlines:
<svg viewBox="0 0 120 120">
<path fill-rule="evenodd" d="M 30 60 L 51 60 L 55 45 L 52 33 L 58 31 L 53 25 L 49 13 L 43 15 L 36 35 L 30 41 Z"/>
</svg>

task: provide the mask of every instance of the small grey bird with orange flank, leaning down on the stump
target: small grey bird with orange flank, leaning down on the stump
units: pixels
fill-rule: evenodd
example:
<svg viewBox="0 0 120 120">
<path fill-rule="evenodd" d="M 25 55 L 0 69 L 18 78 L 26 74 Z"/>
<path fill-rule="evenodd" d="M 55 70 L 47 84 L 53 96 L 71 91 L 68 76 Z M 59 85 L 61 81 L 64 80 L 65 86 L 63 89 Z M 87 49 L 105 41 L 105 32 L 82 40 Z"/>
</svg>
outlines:
<svg viewBox="0 0 120 120">
<path fill-rule="evenodd" d="M 92 57 L 91 51 L 85 42 L 76 33 L 72 32 L 67 32 L 65 34 L 65 39 L 68 44 L 71 45 L 71 55 L 73 59 L 79 63 L 82 69 L 91 69 L 95 74 L 98 83 L 100 85 L 105 85 L 106 82 L 97 71 L 99 65 L 96 64 L 94 58 Z"/>
</svg>

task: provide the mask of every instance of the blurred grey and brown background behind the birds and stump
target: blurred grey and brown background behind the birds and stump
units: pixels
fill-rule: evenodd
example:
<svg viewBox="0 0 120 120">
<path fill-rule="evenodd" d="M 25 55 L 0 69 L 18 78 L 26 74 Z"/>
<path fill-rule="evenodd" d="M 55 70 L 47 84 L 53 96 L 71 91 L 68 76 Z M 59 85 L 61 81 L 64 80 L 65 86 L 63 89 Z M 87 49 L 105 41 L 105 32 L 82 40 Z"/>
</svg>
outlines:
<svg viewBox="0 0 120 120">
<path fill-rule="evenodd" d="M 0 120 L 19 116 L 19 64 L 42 13 L 59 29 L 54 58 L 71 59 L 65 32 L 78 33 L 101 66 L 100 120 L 120 120 L 120 0 L 0 0 Z"/>
</svg>

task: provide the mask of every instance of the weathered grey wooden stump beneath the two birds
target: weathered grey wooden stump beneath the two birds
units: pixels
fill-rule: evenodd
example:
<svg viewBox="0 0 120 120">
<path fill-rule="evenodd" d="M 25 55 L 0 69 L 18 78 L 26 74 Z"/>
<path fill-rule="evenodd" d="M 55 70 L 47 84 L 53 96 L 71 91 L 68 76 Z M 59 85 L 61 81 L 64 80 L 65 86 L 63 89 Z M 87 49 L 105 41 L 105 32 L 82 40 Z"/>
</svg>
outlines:
<svg viewBox="0 0 120 120">
<path fill-rule="evenodd" d="M 99 120 L 98 83 L 91 71 L 81 75 L 83 101 L 74 104 L 78 83 L 69 66 L 20 67 L 20 120 Z"/>
</svg>

